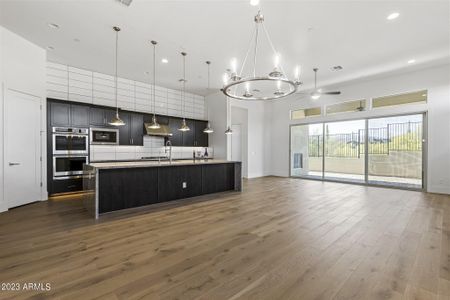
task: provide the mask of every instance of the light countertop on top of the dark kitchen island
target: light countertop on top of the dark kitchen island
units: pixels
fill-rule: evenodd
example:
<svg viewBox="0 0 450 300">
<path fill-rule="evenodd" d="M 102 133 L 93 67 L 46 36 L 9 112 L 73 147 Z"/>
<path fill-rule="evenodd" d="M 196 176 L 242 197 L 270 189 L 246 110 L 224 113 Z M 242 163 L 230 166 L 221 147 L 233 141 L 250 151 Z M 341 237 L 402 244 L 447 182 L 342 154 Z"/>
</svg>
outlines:
<svg viewBox="0 0 450 300">
<path fill-rule="evenodd" d="M 191 166 L 191 165 L 205 165 L 205 164 L 226 164 L 237 163 L 237 161 L 228 161 L 223 159 L 199 159 L 195 162 L 193 160 L 173 160 L 169 161 L 118 161 L 118 162 L 95 162 L 88 166 L 97 169 L 118 169 L 118 168 L 145 168 L 145 167 L 170 167 L 170 166 Z"/>
</svg>

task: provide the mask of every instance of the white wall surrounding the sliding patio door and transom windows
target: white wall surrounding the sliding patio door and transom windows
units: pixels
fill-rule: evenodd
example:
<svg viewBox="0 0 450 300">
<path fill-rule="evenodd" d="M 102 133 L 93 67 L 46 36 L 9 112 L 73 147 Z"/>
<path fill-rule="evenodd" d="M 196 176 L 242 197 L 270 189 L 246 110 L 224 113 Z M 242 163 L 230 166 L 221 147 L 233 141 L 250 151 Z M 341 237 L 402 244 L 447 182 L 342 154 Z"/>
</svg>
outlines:
<svg viewBox="0 0 450 300">
<path fill-rule="evenodd" d="M 333 87 L 330 87 L 333 88 Z M 428 111 L 428 191 L 450 193 L 450 65 L 348 83 L 338 87 L 340 96 L 325 96 L 317 101 L 309 97 L 290 97 L 271 103 L 272 174 L 289 176 L 289 125 L 328 120 L 383 116 Z M 322 106 L 341 101 L 371 99 L 379 96 L 428 90 L 428 103 L 374 109 L 359 113 L 320 116 L 301 121 L 289 118 L 290 110 Z"/>
</svg>

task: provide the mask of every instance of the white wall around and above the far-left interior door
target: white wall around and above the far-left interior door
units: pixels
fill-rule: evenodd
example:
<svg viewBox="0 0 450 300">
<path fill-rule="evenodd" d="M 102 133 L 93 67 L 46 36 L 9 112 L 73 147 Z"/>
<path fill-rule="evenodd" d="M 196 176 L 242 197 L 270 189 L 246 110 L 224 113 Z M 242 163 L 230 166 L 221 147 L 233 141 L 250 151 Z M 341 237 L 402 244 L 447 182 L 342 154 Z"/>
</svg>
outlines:
<svg viewBox="0 0 450 300">
<path fill-rule="evenodd" d="M 6 199 L 3 199 L 3 115 L 5 91 L 12 89 L 40 97 L 41 105 L 45 107 L 45 61 L 46 52 L 44 49 L 0 27 L 0 81 L 2 85 L 2 92 L 0 94 L 0 211 L 7 209 Z M 42 153 L 46 152 L 45 123 L 46 119 L 43 113 L 41 114 L 41 124 L 27 124 L 27 126 L 39 126 L 41 128 Z M 42 172 L 44 172 L 42 174 L 45 174 L 46 156 L 42 155 L 42 157 Z M 41 198 L 44 200 L 47 199 L 46 176 L 43 176 L 42 182 Z"/>
</svg>

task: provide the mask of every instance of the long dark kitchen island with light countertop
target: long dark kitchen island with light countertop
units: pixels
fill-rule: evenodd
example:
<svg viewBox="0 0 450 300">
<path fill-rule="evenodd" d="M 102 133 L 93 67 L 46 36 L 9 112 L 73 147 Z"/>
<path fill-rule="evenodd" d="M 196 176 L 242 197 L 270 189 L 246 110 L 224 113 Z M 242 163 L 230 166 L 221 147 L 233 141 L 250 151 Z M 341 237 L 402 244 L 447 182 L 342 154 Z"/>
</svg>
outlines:
<svg viewBox="0 0 450 300">
<path fill-rule="evenodd" d="M 241 191 L 241 163 L 226 160 L 100 162 L 84 166 L 84 205 L 102 214 L 224 191 Z"/>
</svg>

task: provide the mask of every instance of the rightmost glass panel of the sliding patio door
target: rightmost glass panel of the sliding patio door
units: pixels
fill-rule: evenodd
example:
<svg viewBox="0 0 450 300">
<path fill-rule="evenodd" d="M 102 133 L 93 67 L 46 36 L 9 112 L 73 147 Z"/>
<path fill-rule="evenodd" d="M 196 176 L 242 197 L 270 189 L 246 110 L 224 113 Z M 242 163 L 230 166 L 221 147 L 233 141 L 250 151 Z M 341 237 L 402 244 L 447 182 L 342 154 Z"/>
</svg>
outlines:
<svg viewBox="0 0 450 300">
<path fill-rule="evenodd" d="M 368 182 L 422 188 L 423 115 L 369 119 Z"/>
</svg>

